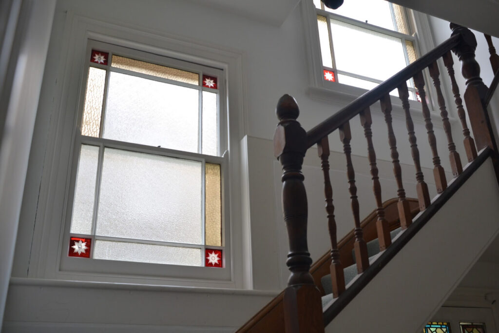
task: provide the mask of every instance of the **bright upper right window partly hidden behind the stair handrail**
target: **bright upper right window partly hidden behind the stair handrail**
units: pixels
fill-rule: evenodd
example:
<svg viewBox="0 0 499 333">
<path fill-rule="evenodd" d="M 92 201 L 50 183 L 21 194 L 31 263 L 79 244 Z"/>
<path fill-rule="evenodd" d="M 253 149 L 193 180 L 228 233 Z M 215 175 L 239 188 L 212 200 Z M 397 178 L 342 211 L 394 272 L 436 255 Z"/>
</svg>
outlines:
<svg viewBox="0 0 499 333">
<path fill-rule="evenodd" d="M 323 80 L 372 89 L 416 60 L 405 8 L 385 0 L 345 1 L 338 9 L 313 0 Z M 413 80 L 410 98 L 417 99 Z M 392 95 L 398 96 L 397 91 Z"/>
</svg>

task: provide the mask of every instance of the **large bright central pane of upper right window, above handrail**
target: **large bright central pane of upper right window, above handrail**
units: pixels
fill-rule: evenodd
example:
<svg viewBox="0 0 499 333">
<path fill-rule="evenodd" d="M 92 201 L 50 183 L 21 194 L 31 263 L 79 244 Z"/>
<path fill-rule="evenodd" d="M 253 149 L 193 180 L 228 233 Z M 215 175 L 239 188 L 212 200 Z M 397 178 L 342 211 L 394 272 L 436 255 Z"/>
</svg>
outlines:
<svg viewBox="0 0 499 333">
<path fill-rule="evenodd" d="M 402 39 L 331 20 L 339 70 L 386 80 L 407 66 Z"/>
</svg>

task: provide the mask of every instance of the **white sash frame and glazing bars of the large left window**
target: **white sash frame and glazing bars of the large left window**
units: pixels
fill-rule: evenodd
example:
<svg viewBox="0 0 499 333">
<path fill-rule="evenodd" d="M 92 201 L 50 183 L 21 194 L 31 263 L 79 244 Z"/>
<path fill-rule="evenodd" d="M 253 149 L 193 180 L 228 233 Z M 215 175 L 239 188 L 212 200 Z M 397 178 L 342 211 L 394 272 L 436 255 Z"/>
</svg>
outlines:
<svg viewBox="0 0 499 333">
<path fill-rule="evenodd" d="M 90 65 L 90 61 L 88 60 L 88 55 L 91 53 L 92 49 L 96 50 L 103 50 L 105 52 L 109 52 L 109 66 L 107 65 L 101 65 L 101 64 L 96 64 L 92 63 Z M 90 66 L 95 67 L 95 68 L 100 68 L 106 70 L 106 81 L 109 81 L 109 75 L 110 72 L 124 72 L 127 73 L 129 71 L 127 70 L 122 70 L 122 69 L 117 69 L 111 66 L 111 58 L 112 54 L 118 53 L 120 56 L 140 60 L 140 61 L 145 61 L 149 63 L 155 63 L 163 66 L 169 66 L 169 67 L 174 67 L 177 69 L 181 70 L 188 70 L 190 72 L 196 72 L 199 74 L 200 80 L 202 80 L 203 75 L 209 75 L 212 77 L 218 77 L 219 82 L 217 84 L 218 90 L 220 95 L 219 95 L 219 110 L 226 110 L 226 105 L 225 105 L 225 99 L 223 98 L 225 96 L 225 77 L 224 77 L 224 71 L 218 68 L 213 68 L 213 67 L 206 67 L 206 66 L 201 66 L 199 64 L 195 63 L 186 63 L 185 61 L 182 60 L 177 60 L 173 58 L 166 58 L 164 56 L 158 56 L 155 54 L 143 52 L 143 51 L 138 51 L 130 48 L 125 48 L 122 46 L 117 46 L 117 45 L 112 45 L 108 43 L 103 43 L 100 41 L 96 40 L 88 40 L 88 45 L 85 54 L 87 55 L 87 61 L 84 66 L 84 73 L 88 73 L 88 70 Z M 187 67 L 186 67 L 187 66 Z M 149 76 L 137 72 L 130 72 L 131 75 L 134 75 L 136 77 L 145 77 L 148 79 L 151 79 Z M 154 78 L 153 78 L 154 79 Z M 167 82 L 169 80 L 167 79 L 161 79 L 157 78 L 157 81 L 161 82 Z M 184 85 L 181 82 L 173 82 L 173 84 L 177 85 Z M 198 89 L 200 90 L 200 93 L 202 91 L 208 91 L 208 92 L 215 92 L 215 89 L 211 88 L 205 88 L 202 86 L 201 81 L 199 82 L 200 85 L 198 86 Z M 85 136 L 80 134 L 81 129 L 81 124 L 82 124 L 82 119 L 83 119 L 83 113 L 84 113 L 84 100 L 85 100 L 85 91 L 86 91 L 86 86 L 87 86 L 87 75 L 82 75 L 82 82 L 81 82 L 81 87 L 82 91 L 80 91 L 80 97 L 79 97 L 79 110 L 77 113 L 77 124 L 76 124 L 76 131 L 75 131 L 75 138 L 74 138 L 74 147 L 73 147 L 73 162 L 71 166 L 71 180 L 69 184 L 69 191 L 67 195 L 67 209 L 66 209 L 66 217 L 65 217 L 65 224 L 64 224 L 64 238 L 63 238 L 63 245 L 70 245 L 70 237 L 81 237 L 81 238 L 88 238 L 90 237 L 92 239 L 92 243 L 90 245 L 90 253 L 93 253 L 93 250 L 95 248 L 95 240 L 100 239 L 100 240 L 108 240 L 108 241 L 121 241 L 121 242 L 137 242 L 141 244 L 157 244 L 157 245 L 168 245 L 168 246 L 180 246 L 180 247 L 189 247 L 189 248 L 199 248 L 201 249 L 201 263 L 202 266 L 204 266 L 205 262 L 205 249 L 210 248 L 210 249 L 217 249 L 217 250 L 222 250 L 222 255 L 223 262 L 227 262 L 227 264 L 224 266 L 224 268 L 227 268 L 227 265 L 229 265 L 230 268 L 230 252 L 226 252 L 226 248 L 224 246 L 225 244 L 225 220 L 224 215 L 222 214 L 222 246 L 208 246 L 205 244 L 189 244 L 189 243 L 171 243 L 171 242 L 156 242 L 156 241 L 150 241 L 150 240 L 131 240 L 131 239 L 126 239 L 126 238 L 119 238 L 119 237 L 102 237 L 102 236 L 97 236 L 95 235 L 95 226 L 96 226 L 96 218 L 97 218 L 97 207 L 98 207 L 98 193 L 99 193 L 99 188 L 100 188 L 100 181 L 98 182 L 98 186 L 96 187 L 96 194 L 95 194 L 95 205 L 93 207 L 94 211 L 94 218 L 92 222 L 92 234 L 91 235 L 84 235 L 84 234 L 73 234 L 70 233 L 70 226 L 71 226 L 71 216 L 72 216 L 72 207 L 74 203 L 74 194 L 75 194 L 75 186 L 76 186 L 76 177 L 77 177 L 77 169 L 78 169 L 78 160 L 79 160 L 79 152 L 80 152 L 80 147 L 82 145 L 91 145 L 91 146 L 96 146 L 99 147 L 99 163 L 98 163 L 98 168 L 97 168 L 97 177 L 101 175 L 101 170 L 102 170 L 102 160 L 103 160 L 103 153 L 105 148 L 115 148 L 115 149 L 120 149 L 120 150 L 127 150 L 127 151 L 133 151 L 133 152 L 140 152 L 140 153 L 146 153 L 146 154 L 152 154 L 152 155 L 158 155 L 158 156 L 167 156 L 167 157 L 177 157 L 181 159 L 187 159 L 187 160 L 192 160 L 192 161 L 199 161 L 202 163 L 202 170 L 204 170 L 205 163 L 213 163 L 213 164 L 218 164 L 221 166 L 221 179 L 227 179 L 228 178 L 228 170 L 227 170 L 227 162 L 228 162 L 228 155 L 225 157 L 222 156 L 211 156 L 211 155 L 204 155 L 201 153 L 192 153 L 192 152 L 185 152 L 185 151 L 179 151 L 179 150 L 174 150 L 174 149 L 168 149 L 168 148 L 163 148 L 163 147 L 154 147 L 154 146 L 148 146 L 148 145 L 143 145 L 143 144 L 136 144 L 136 143 L 130 143 L 130 142 L 124 142 L 124 141 L 115 141 L 115 140 L 110 140 L 110 139 L 105 139 L 102 138 L 102 128 L 103 128 L 103 123 L 104 123 L 104 118 L 105 118 L 105 104 L 106 104 L 106 95 L 107 95 L 107 89 L 104 90 L 104 99 L 103 99 L 103 106 L 102 106 L 102 116 L 101 116 L 101 122 L 100 122 L 100 132 L 101 132 L 101 137 L 90 137 L 90 136 Z M 107 87 L 107 86 L 106 86 Z M 200 110 L 201 110 L 201 103 L 200 103 Z M 201 111 L 200 111 L 201 112 Z M 225 124 L 226 123 L 226 114 L 225 112 L 219 112 L 219 124 Z M 219 125 L 219 155 L 225 155 L 224 152 L 227 151 L 227 145 L 226 145 L 226 128 L 227 126 L 220 126 Z M 200 138 L 201 140 L 201 138 Z M 201 141 L 200 141 L 201 142 Z M 199 147 L 201 146 L 201 143 L 199 144 Z M 204 172 L 202 172 L 202 183 L 204 183 Z M 204 194 L 204 186 L 202 186 L 202 193 Z M 203 195 L 202 195 L 203 197 Z M 222 189 L 222 209 L 225 208 L 224 205 L 224 199 L 225 199 L 225 191 Z M 202 230 L 204 230 L 204 209 L 203 209 L 203 214 L 202 214 Z M 204 232 L 203 232 L 203 241 L 204 241 Z M 146 263 L 140 263 L 142 265 L 135 265 L 139 263 L 134 263 L 132 264 L 131 262 L 117 262 L 113 260 L 100 260 L 100 259 L 93 259 L 93 256 L 91 255 L 91 258 L 77 258 L 77 257 L 69 257 L 67 255 L 67 248 L 64 248 L 62 246 L 62 253 L 61 253 L 61 269 L 64 271 L 84 271 L 84 272 L 108 272 L 108 273 L 119 273 L 119 274 L 134 274 L 134 272 L 137 272 L 137 269 L 147 269 L 148 271 L 151 272 L 151 275 L 166 275 L 167 272 L 165 272 L 165 265 L 160 265 L 160 264 L 155 264 L 153 265 L 154 268 L 147 268 L 147 266 L 151 264 L 146 264 Z M 145 264 L 145 265 L 144 265 Z M 174 266 L 174 265 L 167 265 L 167 266 Z M 209 275 L 207 273 L 207 275 Z"/>
</svg>

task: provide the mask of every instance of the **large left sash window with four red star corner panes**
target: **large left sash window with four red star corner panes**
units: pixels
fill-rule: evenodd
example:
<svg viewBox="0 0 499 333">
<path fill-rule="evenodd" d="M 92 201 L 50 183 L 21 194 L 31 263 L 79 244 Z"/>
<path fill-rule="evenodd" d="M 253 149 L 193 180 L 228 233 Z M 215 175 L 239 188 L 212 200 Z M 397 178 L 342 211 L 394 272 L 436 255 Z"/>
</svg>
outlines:
<svg viewBox="0 0 499 333">
<path fill-rule="evenodd" d="M 87 52 L 64 260 L 224 268 L 224 71 Z"/>
</svg>

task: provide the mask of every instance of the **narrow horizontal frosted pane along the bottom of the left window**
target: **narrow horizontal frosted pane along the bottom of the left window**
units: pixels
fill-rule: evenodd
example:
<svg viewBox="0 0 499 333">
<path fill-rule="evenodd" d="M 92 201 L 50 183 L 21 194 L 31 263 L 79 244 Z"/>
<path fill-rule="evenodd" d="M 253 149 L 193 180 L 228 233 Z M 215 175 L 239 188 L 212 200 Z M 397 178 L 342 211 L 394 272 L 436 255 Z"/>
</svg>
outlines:
<svg viewBox="0 0 499 333">
<path fill-rule="evenodd" d="M 201 249 L 96 240 L 94 259 L 201 266 Z"/>
</svg>

